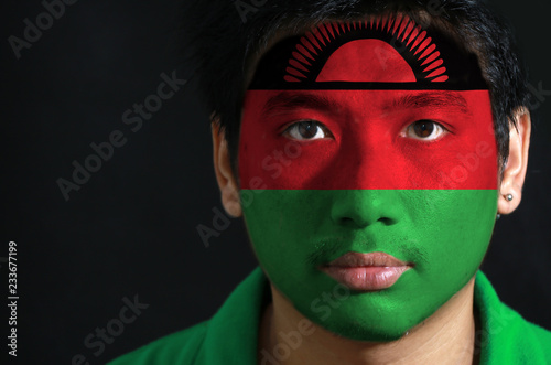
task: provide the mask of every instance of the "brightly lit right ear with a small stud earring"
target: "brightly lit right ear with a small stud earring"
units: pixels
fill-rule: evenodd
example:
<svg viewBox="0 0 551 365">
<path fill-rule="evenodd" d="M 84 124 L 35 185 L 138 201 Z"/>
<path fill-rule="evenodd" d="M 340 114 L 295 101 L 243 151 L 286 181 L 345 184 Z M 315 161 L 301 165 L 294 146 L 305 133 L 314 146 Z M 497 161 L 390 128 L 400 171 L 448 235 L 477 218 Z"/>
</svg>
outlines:
<svg viewBox="0 0 551 365">
<path fill-rule="evenodd" d="M 521 108 L 516 112 L 515 119 L 517 128 L 511 126 L 509 130 L 509 155 L 499 186 L 497 201 L 497 212 L 499 214 L 512 213 L 519 206 L 528 168 L 528 147 L 530 146 L 531 131 L 530 112 Z M 512 200 L 508 200 L 507 196 L 512 196 Z"/>
</svg>

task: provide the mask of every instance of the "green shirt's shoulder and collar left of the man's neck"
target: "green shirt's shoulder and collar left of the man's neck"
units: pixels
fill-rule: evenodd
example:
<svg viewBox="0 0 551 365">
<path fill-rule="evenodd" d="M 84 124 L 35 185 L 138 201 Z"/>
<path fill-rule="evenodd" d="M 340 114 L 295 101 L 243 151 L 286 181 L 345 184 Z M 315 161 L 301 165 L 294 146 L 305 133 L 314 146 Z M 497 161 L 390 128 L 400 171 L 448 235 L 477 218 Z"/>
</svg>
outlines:
<svg viewBox="0 0 551 365">
<path fill-rule="evenodd" d="M 268 280 L 260 268 L 256 268 L 210 320 L 156 340 L 108 364 L 255 364 L 259 318 L 267 294 Z"/>
</svg>

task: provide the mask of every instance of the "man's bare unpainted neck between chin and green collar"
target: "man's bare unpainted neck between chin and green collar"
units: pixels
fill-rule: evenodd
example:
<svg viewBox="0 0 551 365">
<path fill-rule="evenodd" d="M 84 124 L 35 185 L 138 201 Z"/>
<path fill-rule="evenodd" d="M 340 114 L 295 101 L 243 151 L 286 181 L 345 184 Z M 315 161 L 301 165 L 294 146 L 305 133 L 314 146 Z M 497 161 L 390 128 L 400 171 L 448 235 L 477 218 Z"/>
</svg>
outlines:
<svg viewBox="0 0 551 365">
<path fill-rule="evenodd" d="M 306 320 L 273 286 L 259 332 L 258 364 L 476 364 L 474 278 L 398 341 L 341 337 Z"/>
</svg>

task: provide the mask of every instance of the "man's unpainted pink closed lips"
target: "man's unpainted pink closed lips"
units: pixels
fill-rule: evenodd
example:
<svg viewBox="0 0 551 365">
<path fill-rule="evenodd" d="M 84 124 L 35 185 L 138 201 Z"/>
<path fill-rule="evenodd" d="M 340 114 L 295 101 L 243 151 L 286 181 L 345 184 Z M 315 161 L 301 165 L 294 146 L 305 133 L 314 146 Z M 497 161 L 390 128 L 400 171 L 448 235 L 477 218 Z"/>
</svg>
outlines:
<svg viewBox="0 0 551 365">
<path fill-rule="evenodd" d="M 320 269 L 349 289 L 375 291 L 392 287 L 411 267 L 385 253 L 347 253 Z"/>
</svg>

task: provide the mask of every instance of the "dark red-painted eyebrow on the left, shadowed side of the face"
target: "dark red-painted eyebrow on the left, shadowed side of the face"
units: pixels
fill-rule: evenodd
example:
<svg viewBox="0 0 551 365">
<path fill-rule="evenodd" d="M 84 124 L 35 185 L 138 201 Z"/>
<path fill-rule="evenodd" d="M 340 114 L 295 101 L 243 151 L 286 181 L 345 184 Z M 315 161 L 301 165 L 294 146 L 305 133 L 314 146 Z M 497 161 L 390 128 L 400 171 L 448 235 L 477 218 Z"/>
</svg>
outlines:
<svg viewBox="0 0 551 365">
<path fill-rule="evenodd" d="M 341 105 L 322 95 L 282 92 L 268 99 L 262 108 L 262 114 L 269 115 L 274 111 L 294 110 L 296 108 L 332 111 L 341 108 Z"/>
</svg>

